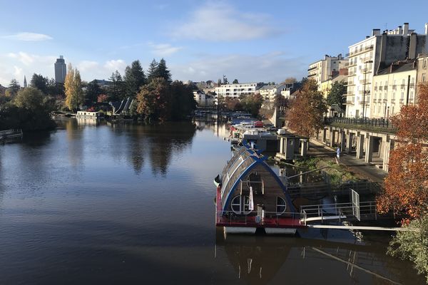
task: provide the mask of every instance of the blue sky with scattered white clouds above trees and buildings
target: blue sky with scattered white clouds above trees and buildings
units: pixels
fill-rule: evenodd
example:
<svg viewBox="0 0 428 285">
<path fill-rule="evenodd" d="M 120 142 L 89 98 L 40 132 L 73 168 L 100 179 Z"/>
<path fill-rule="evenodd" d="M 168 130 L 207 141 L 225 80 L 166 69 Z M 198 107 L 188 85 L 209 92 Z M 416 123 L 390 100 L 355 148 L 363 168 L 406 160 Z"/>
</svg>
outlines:
<svg viewBox="0 0 428 285">
<path fill-rule="evenodd" d="M 398 3 L 398 2 L 397 2 Z M 402 11 L 398 12 L 399 5 Z M 0 84 L 54 78 L 62 55 L 84 81 L 165 58 L 174 80 L 281 82 L 372 28 L 424 32 L 428 1 L 0 0 Z M 408 8 L 406 10 L 406 7 Z M 417 7 L 417 9 L 414 9 Z M 411 11 L 411 12 L 410 12 Z"/>
</svg>

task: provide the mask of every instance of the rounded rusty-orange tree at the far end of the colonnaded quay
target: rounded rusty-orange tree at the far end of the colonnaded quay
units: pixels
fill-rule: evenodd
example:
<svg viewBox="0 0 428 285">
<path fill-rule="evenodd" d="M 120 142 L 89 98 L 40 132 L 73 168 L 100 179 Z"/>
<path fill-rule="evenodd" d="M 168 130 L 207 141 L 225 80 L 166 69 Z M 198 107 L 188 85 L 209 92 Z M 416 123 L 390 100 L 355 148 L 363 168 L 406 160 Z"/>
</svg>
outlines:
<svg viewBox="0 0 428 285">
<path fill-rule="evenodd" d="M 315 135 L 324 126 L 326 111 L 327 106 L 322 93 L 317 90 L 317 83 L 313 80 L 306 81 L 288 110 L 288 128 L 299 135 Z M 302 118 L 303 115 L 305 118 Z"/>
</svg>

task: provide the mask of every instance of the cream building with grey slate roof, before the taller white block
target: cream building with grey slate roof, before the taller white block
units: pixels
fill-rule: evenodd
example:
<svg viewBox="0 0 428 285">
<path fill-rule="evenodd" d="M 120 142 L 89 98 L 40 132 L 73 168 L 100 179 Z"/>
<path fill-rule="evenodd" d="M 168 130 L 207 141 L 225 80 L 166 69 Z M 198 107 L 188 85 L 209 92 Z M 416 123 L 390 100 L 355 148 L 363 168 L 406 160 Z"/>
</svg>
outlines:
<svg viewBox="0 0 428 285">
<path fill-rule="evenodd" d="M 402 105 L 414 104 L 417 61 L 398 61 L 373 76 L 370 118 L 384 118 L 399 113 Z M 369 97 L 369 96 L 367 96 Z"/>
</svg>

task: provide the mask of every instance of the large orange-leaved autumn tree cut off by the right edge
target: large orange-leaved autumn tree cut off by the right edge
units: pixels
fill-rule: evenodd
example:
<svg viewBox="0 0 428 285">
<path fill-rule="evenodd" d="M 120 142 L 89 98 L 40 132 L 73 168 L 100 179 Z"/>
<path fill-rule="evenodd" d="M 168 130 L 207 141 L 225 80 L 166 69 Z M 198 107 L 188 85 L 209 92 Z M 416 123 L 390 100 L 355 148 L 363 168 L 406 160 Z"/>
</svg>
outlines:
<svg viewBox="0 0 428 285">
<path fill-rule="evenodd" d="M 428 214 L 427 83 L 419 86 L 418 105 L 402 106 L 392 123 L 397 127 L 397 145 L 389 153 L 389 173 L 377 208 L 419 219 Z"/>
</svg>

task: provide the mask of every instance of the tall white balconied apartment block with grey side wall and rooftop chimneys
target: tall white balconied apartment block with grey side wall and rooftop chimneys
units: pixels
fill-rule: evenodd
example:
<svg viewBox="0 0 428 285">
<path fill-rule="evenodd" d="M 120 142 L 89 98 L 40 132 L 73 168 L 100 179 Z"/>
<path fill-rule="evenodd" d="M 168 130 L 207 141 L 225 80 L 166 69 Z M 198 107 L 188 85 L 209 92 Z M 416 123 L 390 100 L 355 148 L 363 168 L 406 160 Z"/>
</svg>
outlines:
<svg viewBox="0 0 428 285">
<path fill-rule="evenodd" d="M 379 29 L 373 29 L 371 36 L 350 46 L 345 115 L 370 118 L 373 76 L 394 61 L 415 58 L 424 51 L 426 41 L 427 25 L 425 34 L 418 35 L 404 23 L 382 34 Z"/>
</svg>

